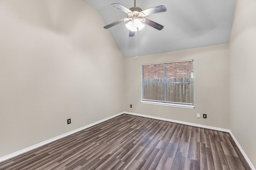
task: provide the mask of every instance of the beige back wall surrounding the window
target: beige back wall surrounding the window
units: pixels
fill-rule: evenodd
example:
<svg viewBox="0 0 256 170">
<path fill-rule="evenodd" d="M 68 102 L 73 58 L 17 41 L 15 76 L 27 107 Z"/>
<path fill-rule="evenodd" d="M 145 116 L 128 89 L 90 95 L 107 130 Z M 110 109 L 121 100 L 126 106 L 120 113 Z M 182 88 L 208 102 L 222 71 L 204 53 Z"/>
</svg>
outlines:
<svg viewBox="0 0 256 170">
<path fill-rule="evenodd" d="M 188 59 L 194 59 L 194 109 L 140 103 L 141 64 Z M 228 44 L 128 58 L 124 63 L 124 111 L 228 129 Z M 206 113 L 207 119 L 196 118 L 196 113 Z"/>
</svg>

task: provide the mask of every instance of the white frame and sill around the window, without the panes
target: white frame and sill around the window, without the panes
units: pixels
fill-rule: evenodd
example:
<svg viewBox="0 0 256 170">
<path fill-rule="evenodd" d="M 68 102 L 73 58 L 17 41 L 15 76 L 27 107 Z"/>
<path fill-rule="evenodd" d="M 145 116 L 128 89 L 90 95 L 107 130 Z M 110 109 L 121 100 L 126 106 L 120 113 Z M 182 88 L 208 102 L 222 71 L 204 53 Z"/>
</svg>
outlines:
<svg viewBox="0 0 256 170">
<path fill-rule="evenodd" d="M 184 60 L 184 61 L 173 61 L 173 62 L 166 62 L 166 63 L 152 63 L 152 64 L 168 64 L 168 63 L 180 63 L 180 62 L 186 62 L 186 61 L 194 61 L 194 60 Z M 158 106 L 171 106 L 171 107 L 181 107 L 181 108 L 187 108 L 187 109 L 194 109 L 194 81 L 193 83 L 193 103 L 192 104 L 183 104 L 183 103 L 168 103 L 168 102 L 164 102 L 164 101 L 155 101 L 155 100 L 143 100 L 143 66 L 144 65 L 152 65 L 152 64 L 142 64 L 142 93 L 141 93 L 141 98 L 142 100 L 140 101 L 140 103 L 142 104 L 152 104 L 152 105 L 158 105 Z M 194 65 L 194 64 L 193 64 Z M 193 74 L 194 74 L 194 68 L 193 68 Z M 194 75 L 193 75 L 194 77 Z"/>
</svg>

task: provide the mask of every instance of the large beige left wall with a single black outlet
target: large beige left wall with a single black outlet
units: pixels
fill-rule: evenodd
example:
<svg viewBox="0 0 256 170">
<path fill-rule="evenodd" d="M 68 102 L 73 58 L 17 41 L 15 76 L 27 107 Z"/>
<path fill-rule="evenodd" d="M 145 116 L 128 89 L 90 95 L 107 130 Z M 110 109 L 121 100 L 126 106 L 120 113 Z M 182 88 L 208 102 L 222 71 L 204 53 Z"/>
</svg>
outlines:
<svg viewBox="0 0 256 170">
<path fill-rule="evenodd" d="M 0 25 L 0 157 L 123 111 L 124 59 L 86 2 L 1 0 Z"/>
</svg>

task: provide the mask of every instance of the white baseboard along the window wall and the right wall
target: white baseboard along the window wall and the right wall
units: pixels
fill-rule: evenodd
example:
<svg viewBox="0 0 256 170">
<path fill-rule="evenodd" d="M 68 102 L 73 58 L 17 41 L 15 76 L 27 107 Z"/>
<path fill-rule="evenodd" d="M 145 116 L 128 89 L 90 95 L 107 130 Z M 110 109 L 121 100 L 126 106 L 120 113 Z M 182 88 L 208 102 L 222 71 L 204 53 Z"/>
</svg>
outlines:
<svg viewBox="0 0 256 170">
<path fill-rule="evenodd" d="M 172 119 L 166 119 L 166 118 L 162 118 L 162 117 L 154 117 L 154 116 L 149 116 L 149 115 L 142 115 L 142 114 L 138 114 L 138 113 L 131 113 L 131 112 L 123 112 L 125 114 L 129 114 L 129 115 L 136 115 L 136 116 L 141 116 L 141 117 L 147 117 L 147 118 L 152 118 L 152 119 L 158 119 L 158 120 L 163 120 L 163 121 L 170 121 L 170 122 L 174 122 L 174 123 L 180 123 L 180 124 L 184 124 L 184 125 L 190 125 L 190 126 L 195 126 L 195 127 L 202 127 L 205 129 L 212 129 L 212 130 L 216 130 L 216 131 L 223 131 L 223 132 L 227 132 L 231 135 L 231 137 L 233 138 L 234 142 L 236 143 L 238 149 L 240 150 L 240 152 L 242 153 L 242 155 L 244 156 L 245 160 L 247 161 L 248 165 L 250 166 L 250 168 L 252 168 L 252 170 L 255 170 L 254 166 L 252 165 L 252 162 L 249 160 L 249 158 L 247 157 L 247 155 L 245 154 L 244 150 L 242 149 L 242 147 L 239 145 L 238 141 L 236 140 L 236 138 L 234 137 L 234 135 L 232 134 L 232 132 L 229 129 L 222 129 L 222 128 L 218 128 L 218 127 L 212 127 L 212 126 L 206 126 L 206 125 L 199 125 L 199 124 L 195 124 L 195 123 L 188 123 L 188 122 L 184 122 L 184 121 L 177 121 L 177 120 L 172 120 Z"/>
</svg>

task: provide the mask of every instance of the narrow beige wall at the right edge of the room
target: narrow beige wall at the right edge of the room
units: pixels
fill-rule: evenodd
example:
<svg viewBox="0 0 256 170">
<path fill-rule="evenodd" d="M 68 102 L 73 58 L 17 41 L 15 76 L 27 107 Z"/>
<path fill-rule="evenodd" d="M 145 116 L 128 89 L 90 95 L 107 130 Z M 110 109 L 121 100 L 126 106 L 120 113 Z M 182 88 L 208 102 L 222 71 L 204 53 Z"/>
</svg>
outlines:
<svg viewBox="0 0 256 170">
<path fill-rule="evenodd" d="M 256 167 L 256 1 L 238 0 L 230 38 L 230 130 Z"/>
</svg>

